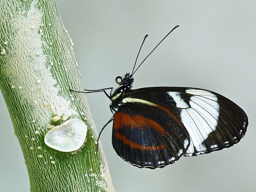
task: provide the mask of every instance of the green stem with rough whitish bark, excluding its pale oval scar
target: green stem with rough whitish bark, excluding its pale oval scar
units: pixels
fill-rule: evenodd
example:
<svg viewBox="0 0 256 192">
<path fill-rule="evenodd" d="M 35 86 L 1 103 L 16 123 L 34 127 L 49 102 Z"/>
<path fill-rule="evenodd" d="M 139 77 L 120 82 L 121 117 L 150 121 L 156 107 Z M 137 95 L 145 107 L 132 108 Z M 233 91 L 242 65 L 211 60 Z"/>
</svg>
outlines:
<svg viewBox="0 0 256 192">
<path fill-rule="evenodd" d="M 0 89 L 20 142 L 32 192 L 114 191 L 82 90 L 72 41 L 54 0 L 1 0 Z M 54 114 L 79 118 L 86 142 L 74 153 L 44 143 Z"/>
</svg>

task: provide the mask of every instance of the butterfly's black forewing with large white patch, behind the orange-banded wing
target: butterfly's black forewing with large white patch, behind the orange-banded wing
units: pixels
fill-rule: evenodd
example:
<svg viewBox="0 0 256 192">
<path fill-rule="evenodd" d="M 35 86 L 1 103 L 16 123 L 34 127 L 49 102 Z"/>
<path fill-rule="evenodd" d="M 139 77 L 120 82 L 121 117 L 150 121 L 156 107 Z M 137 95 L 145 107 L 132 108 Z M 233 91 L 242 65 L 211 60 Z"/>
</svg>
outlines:
<svg viewBox="0 0 256 192">
<path fill-rule="evenodd" d="M 246 132 L 246 113 L 228 98 L 208 90 L 151 87 L 129 90 L 137 98 L 167 108 L 186 127 L 190 146 L 185 156 L 196 156 L 230 147 Z"/>
</svg>

